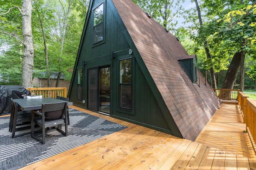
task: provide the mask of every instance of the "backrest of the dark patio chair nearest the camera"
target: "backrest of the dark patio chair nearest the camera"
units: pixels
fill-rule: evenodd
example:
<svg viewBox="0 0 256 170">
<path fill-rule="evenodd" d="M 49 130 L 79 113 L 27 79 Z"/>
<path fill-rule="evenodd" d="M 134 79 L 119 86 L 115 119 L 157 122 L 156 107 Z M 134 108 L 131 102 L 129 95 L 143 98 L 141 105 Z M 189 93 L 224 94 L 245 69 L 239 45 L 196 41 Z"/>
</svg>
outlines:
<svg viewBox="0 0 256 170">
<path fill-rule="evenodd" d="M 45 121 L 61 119 L 67 110 L 67 102 L 42 104 L 42 113 L 44 113 Z"/>
</svg>

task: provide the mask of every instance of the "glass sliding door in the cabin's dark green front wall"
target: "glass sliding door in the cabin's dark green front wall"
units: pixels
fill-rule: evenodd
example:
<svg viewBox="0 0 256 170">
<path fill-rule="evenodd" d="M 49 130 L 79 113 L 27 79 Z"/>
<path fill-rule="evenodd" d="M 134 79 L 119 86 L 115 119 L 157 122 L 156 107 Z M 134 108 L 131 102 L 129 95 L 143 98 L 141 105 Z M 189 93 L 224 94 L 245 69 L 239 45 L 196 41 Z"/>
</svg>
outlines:
<svg viewBox="0 0 256 170">
<path fill-rule="evenodd" d="M 88 70 L 88 109 L 110 114 L 110 67 Z"/>
</svg>

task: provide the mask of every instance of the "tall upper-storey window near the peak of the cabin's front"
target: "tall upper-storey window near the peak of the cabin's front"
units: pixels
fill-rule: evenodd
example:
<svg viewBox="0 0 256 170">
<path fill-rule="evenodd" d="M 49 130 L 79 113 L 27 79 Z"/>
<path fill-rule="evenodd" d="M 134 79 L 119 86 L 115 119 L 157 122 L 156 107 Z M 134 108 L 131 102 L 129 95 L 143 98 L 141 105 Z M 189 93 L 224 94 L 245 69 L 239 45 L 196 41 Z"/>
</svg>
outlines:
<svg viewBox="0 0 256 170">
<path fill-rule="evenodd" d="M 104 3 L 93 10 L 93 43 L 103 41 L 104 36 Z"/>
</svg>

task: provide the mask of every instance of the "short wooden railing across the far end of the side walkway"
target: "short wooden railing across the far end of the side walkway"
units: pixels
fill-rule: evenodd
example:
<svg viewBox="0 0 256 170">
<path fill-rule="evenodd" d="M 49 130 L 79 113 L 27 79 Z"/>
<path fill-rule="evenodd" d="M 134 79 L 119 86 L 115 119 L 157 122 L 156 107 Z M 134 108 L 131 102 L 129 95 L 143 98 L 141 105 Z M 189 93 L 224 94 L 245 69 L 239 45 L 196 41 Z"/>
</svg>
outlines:
<svg viewBox="0 0 256 170">
<path fill-rule="evenodd" d="M 240 92 L 240 89 L 213 89 L 214 92 L 217 94 L 217 96 L 220 99 L 224 100 L 238 100 L 238 92 Z"/>
</svg>

